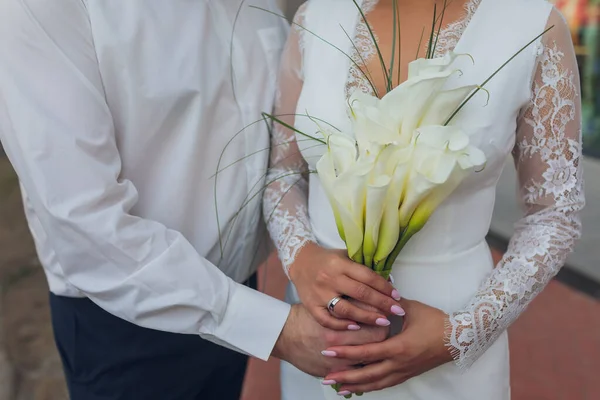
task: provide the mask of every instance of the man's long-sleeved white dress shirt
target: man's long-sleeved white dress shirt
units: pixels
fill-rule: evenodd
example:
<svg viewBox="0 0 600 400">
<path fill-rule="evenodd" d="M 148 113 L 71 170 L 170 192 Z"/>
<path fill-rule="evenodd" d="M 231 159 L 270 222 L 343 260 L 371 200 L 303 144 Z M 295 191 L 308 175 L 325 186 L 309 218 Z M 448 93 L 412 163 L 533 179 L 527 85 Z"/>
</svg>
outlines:
<svg viewBox="0 0 600 400">
<path fill-rule="evenodd" d="M 235 135 L 271 110 L 287 26 L 245 5 L 234 31 L 240 2 L 1 2 L 0 135 L 52 292 L 266 359 L 289 306 L 238 283 L 258 200 L 236 213 L 269 138 Z"/>
</svg>

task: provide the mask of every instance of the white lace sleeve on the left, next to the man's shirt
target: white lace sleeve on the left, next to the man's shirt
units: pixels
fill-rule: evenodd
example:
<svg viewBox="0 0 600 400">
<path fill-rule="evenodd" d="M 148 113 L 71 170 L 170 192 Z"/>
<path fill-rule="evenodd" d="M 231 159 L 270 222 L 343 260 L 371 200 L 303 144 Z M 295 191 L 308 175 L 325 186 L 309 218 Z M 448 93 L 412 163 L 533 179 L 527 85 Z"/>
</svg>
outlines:
<svg viewBox="0 0 600 400">
<path fill-rule="evenodd" d="M 302 25 L 304 6 L 294 22 Z M 294 125 L 296 103 L 302 91 L 302 29 L 295 26 L 283 51 L 275 115 Z M 307 212 L 308 165 L 302 157 L 295 133 L 275 122 L 271 137 L 271 158 L 263 211 L 286 274 L 299 250 L 314 242 Z"/>
</svg>

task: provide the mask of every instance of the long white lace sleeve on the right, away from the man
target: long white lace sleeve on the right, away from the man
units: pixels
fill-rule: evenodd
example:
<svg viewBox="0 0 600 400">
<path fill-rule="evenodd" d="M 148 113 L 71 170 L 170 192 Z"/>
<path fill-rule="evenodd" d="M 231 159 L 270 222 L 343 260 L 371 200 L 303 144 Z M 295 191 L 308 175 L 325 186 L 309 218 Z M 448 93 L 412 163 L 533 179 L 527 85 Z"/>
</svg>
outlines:
<svg viewBox="0 0 600 400">
<path fill-rule="evenodd" d="M 467 368 L 558 273 L 581 234 L 584 205 L 577 61 L 566 23 L 553 10 L 517 128 L 513 156 L 525 216 L 509 248 L 466 308 L 449 316 L 448 346 Z"/>
</svg>

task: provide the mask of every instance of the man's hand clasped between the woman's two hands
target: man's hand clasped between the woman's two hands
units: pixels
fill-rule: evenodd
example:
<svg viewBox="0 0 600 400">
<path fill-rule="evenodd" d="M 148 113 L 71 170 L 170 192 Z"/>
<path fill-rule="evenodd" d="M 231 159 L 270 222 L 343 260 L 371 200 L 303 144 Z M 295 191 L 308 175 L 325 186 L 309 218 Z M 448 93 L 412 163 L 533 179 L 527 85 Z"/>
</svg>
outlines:
<svg viewBox="0 0 600 400">
<path fill-rule="evenodd" d="M 334 331 L 324 328 L 297 304 L 290 315 L 273 349 L 273 356 L 289 362 L 307 374 L 323 377 L 332 371 L 347 369 L 348 360 L 324 357 L 322 351 L 334 346 L 350 346 L 381 342 L 387 338 L 389 328 L 363 326 L 358 331 Z"/>
</svg>

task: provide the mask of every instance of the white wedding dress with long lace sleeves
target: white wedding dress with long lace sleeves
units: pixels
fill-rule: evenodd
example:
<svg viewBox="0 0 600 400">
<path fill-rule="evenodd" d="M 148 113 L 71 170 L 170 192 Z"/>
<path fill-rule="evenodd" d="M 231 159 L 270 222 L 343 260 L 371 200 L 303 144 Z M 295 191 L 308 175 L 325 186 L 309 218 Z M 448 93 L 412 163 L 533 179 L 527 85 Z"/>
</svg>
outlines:
<svg viewBox="0 0 600 400">
<path fill-rule="evenodd" d="M 374 0 L 360 2 L 368 12 Z M 565 262 L 580 235 L 584 205 L 581 172 L 579 79 L 569 30 L 543 0 L 471 0 L 464 19 L 438 39 L 438 56 L 457 60 L 448 88 L 479 84 L 525 44 L 554 25 L 514 59 L 461 111 L 456 124 L 488 159 L 434 213 L 401 252 L 392 275 L 400 294 L 445 311 L 455 363 L 435 368 L 362 399 L 506 400 L 510 398 L 506 329 Z M 313 0 L 296 23 L 360 63 L 375 53 L 350 0 Z M 341 29 L 354 32 L 356 49 Z M 284 51 L 276 114 L 314 134 L 308 114 L 349 131 L 346 97 L 369 85 L 341 52 L 303 29 L 293 29 Z M 269 231 L 287 269 L 304 244 L 344 248 L 318 176 L 310 173 L 323 145 L 276 127 L 270 182 L 264 197 Z M 494 268 L 485 236 L 496 183 L 510 153 L 518 169 L 526 214 L 502 261 Z M 292 302 L 298 298 L 292 288 Z M 549 311 L 550 312 L 550 311 Z M 320 351 L 322 349 L 315 349 Z M 337 399 L 289 364 L 282 364 L 283 400 Z"/>
</svg>

